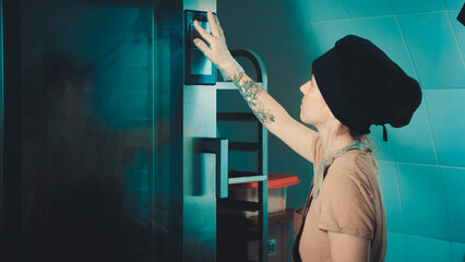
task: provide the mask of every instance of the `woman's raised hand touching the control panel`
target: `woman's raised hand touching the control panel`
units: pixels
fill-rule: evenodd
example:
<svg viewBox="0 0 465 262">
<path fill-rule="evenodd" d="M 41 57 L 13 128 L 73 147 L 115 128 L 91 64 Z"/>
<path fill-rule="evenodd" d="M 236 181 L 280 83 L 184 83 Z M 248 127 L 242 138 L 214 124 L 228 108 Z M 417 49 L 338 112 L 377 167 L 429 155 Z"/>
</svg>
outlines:
<svg viewBox="0 0 465 262">
<path fill-rule="evenodd" d="M 213 15 L 212 11 L 208 10 L 206 14 L 208 19 L 210 27 L 212 28 L 212 34 L 206 32 L 195 20 L 194 27 L 199 34 L 210 44 L 208 46 L 201 39 L 195 38 L 193 41 L 196 47 L 212 61 L 223 74 L 225 80 L 231 80 L 231 75 L 237 72 L 240 72 L 242 68 L 239 63 L 233 58 L 231 53 L 226 46 L 226 38 L 223 32 L 222 26 L 219 25 L 218 17 Z"/>
</svg>

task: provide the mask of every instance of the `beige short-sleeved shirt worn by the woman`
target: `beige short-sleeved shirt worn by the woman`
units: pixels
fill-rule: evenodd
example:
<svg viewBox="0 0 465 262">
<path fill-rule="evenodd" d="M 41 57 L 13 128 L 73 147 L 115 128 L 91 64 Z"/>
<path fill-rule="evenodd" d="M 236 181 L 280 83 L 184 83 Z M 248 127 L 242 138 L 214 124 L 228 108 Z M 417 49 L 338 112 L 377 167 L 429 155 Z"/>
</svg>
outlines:
<svg viewBox="0 0 465 262">
<path fill-rule="evenodd" d="M 320 135 L 313 140 L 314 163 L 324 157 Z M 327 230 L 371 240 L 370 261 L 384 261 L 386 221 L 371 151 L 351 150 L 329 167 L 305 221 L 299 253 L 302 262 L 331 261 Z"/>
</svg>

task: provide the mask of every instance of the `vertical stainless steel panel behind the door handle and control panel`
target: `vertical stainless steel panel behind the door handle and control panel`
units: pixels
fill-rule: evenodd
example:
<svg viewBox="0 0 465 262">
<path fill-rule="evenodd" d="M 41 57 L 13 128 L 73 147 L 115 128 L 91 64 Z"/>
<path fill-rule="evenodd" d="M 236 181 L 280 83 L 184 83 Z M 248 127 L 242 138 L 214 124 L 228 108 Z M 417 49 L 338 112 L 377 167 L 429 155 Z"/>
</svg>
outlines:
<svg viewBox="0 0 465 262">
<path fill-rule="evenodd" d="M 182 9 L 216 12 L 216 1 L 183 1 Z M 184 35 L 184 32 L 182 34 Z M 184 45 L 187 45 L 186 41 Z M 216 88 L 214 85 L 183 85 L 182 257 L 184 261 L 216 261 L 215 158 L 201 157 L 193 153 L 195 138 L 216 138 Z M 202 159 L 201 166 L 204 167 L 204 174 L 200 176 L 195 175 L 199 171 L 195 167 L 199 165 L 199 159 Z M 204 177 L 206 189 L 214 190 L 205 190 L 203 195 L 196 194 L 195 184 L 203 183 L 196 180 L 200 177 Z"/>
</svg>

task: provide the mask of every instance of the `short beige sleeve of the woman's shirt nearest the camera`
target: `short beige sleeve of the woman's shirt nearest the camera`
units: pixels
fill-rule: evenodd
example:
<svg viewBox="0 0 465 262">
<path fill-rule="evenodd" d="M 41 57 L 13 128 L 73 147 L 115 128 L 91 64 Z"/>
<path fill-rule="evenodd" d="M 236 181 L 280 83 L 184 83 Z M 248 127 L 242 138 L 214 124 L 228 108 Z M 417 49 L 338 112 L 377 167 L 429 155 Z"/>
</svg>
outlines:
<svg viewBox="0 0 465 262">
<path fill-rule="evenodd" d="M 319 195 L 318 228 L 372 239 L 374 209 L 361 190 L 354 177 L 344 174 L 326 176 Z"/>
</svg>

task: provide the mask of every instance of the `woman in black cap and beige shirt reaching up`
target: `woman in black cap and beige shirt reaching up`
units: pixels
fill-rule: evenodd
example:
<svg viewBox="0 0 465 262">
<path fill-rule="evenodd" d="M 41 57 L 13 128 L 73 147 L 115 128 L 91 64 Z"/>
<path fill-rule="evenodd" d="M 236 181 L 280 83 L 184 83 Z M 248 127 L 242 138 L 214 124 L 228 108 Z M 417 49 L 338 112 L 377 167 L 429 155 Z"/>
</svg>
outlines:
<svg viewBox="0 0 465 262">
<path fill-rule="evenodd" d="M 218 19 L 211 11 L 207 17 L 212 34 L 196 21 L 194 26 L 210 47 L 194 44 L 235 82 L 267 130 L 313 163 L 309 196 L 295 212 L 294 261 L 384 261 L 385 214 L 378 165 L 367 147 L 369 127 L 383 126 L 388 141 L 384 123 L 408 124 L 421 103 L 418 82 L 371 41 L 347 35 L 312 62 L 312 78 L 300 87 L 300 119 L 315 132 L 243 72 Z"/>
</svg>

